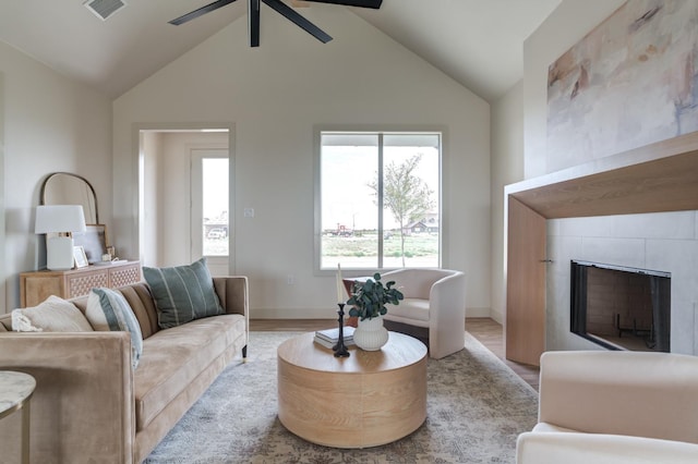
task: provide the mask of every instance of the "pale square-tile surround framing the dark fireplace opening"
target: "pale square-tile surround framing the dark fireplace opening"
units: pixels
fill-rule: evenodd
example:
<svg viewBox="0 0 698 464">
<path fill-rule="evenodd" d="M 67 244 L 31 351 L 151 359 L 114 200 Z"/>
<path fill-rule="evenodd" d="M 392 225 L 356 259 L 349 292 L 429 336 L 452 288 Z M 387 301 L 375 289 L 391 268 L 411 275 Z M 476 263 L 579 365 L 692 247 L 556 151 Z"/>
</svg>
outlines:
<svg viewBox="0 0 698 464">
<path fill-rule="evenodd" d="M 604 350 L 569 331 L 571 259 L 671 272 L 671 351 L 698 354 L 698 213 L 547 221 L 546 350 Z"/>
</svg>

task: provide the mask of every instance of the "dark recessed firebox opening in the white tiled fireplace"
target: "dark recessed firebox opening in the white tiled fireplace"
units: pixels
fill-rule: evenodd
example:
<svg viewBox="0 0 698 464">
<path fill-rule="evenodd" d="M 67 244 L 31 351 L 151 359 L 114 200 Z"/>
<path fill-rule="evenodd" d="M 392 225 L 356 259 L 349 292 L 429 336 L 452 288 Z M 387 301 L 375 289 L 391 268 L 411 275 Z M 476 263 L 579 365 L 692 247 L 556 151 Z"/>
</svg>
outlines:
<svg viewBox="0 0 698 464">
<path fill-rule="evenodd" d="M 571 260 L 570 330 L 609 350 L 670 352 L 671 273 Z"/>
</svg>

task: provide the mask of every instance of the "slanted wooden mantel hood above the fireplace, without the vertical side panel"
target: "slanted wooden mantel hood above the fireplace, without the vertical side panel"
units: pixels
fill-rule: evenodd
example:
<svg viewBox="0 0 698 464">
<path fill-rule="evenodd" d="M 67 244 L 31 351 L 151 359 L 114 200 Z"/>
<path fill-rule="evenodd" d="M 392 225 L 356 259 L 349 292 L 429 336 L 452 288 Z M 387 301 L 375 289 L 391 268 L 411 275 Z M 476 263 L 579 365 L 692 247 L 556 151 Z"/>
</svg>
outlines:
<svg viewBox="0 0 698 464">
<path fill-rule="evenodd" d="M 698 132 L 507 185 L 546 219 L 698 209 Z"/>
</svg>

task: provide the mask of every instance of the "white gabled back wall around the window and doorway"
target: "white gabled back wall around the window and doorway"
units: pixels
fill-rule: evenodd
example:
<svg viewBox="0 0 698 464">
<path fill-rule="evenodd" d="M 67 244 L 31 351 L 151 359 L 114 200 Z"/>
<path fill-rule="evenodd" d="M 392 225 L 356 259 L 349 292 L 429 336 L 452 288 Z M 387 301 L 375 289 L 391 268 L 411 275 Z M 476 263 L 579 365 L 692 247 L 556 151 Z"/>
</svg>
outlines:
<svg viewBox="0 0 698 464">
<path fill-rule="evenodd" d="M 467 272 L 470 315 L 489 313 L 489 105 L 348 10 L 304 14 L 335 40 L 269 12 L 251 49 L 241 19 L 117 99 L 115 179 L 136 185 L 140 123 L 234 124 L 234 271 L 252 316 L 334 318 L 334 276 L 313 264 L 313 126 L 444 126 L 444 266 Z M 143 254 L 135 190 L 115 185 L 113 200 L 117 246 Z"/>
</svg>

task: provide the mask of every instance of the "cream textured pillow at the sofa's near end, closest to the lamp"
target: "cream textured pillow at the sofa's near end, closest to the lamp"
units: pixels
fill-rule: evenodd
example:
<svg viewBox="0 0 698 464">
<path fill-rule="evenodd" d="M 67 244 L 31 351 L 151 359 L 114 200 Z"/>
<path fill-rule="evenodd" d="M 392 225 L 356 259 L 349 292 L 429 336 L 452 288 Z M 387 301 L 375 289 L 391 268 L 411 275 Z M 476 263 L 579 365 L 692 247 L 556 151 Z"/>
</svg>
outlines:
<svg viewBox="0 0 698 464">
<path fill-rule="evenodd" d="M 12 329 L 17 332 L 92 332 L 85 316 L 70 302 L 51 295 L 34 307 L 12 312 Z"/>
</svg>

